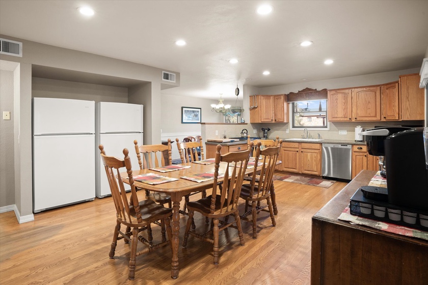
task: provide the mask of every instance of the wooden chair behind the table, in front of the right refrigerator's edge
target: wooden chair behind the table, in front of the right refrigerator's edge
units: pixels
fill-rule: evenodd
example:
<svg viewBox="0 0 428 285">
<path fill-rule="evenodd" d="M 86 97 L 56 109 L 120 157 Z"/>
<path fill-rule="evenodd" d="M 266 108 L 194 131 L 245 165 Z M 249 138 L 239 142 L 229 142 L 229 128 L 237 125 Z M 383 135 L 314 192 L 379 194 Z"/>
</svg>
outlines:
<svg viewBox="0 0 428 285">
<path fill-rule="evenodd" d="M 135 152 L 138 158 L 140 169 L 148 169 L 152 167 L 159 167 L 172 164 L 171 156 L 171 139 L 168 138 L 168 145 L 142 145 L 138 146 L 138 141 L 134 140 Z M 164 154 L 168 153 L 168 160 L 166 161 Z M 160 164 L 159 164 L 160 161 Z M 153 200 L 156 203 L 164 205 L 168 203 L 169 208 L 172 208 L 171 196 L 161 192 L 150 193 L 145 190 L 146 198 Z"/>
</svg>

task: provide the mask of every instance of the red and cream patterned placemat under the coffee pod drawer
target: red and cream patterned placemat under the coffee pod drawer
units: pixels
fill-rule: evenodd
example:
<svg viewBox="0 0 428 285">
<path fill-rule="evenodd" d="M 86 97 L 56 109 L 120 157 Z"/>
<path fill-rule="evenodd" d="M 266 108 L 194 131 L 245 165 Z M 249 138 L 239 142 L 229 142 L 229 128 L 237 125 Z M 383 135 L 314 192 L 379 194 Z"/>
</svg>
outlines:
<svg viewBox="0 0 428 285">
<path fill-rule="evenodd" d="M 348 221 L 352 224 L 361 224 L 361 225 L 369 226 L 369 227 L 372 227 L 373 229 L 378 229 L 388 233 L 428 240 L 428 232 L 411 229 L 410 227 L 406 227 L 403 225 L 398 225 L 398 224 L 393 224 L 389 222 L 372 220 L 365 217 L 351 215 L 349 206 L 347 206 L 343 210 L 343 212 L 340 214 L 340 216 L 337 219 L 342 221 Z"/>
</svg>

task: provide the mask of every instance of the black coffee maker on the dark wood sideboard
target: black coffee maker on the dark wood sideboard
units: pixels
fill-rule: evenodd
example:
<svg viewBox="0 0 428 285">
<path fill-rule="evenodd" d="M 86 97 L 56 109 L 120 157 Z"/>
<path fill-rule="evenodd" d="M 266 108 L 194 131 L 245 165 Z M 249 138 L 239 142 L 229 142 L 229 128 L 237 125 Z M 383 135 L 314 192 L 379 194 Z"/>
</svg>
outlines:
<svg viewBox="0 0 428 285">
<path fill-rule="evenodd" d="M 387 199 L 395 206 L 428 211 L 428 162 L 425 161 L 423 128 L 380 127 L 360 133 L 368 153 L 385 156 Z"/>
</svg>

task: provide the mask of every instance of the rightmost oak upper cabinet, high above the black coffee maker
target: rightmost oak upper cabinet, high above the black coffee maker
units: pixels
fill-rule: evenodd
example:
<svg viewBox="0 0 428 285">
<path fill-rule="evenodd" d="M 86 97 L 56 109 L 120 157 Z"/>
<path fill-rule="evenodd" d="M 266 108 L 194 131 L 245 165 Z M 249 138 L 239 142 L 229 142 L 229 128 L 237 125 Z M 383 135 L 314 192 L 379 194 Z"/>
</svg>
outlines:
<svg viewBox="0 0 428 285">
<path fill-rule="evenodd" d="M 423 120 L 423 88 L 419 88 L 419 74 L 399 76 L 400 106 L 402 120 Z"/>
</svg>

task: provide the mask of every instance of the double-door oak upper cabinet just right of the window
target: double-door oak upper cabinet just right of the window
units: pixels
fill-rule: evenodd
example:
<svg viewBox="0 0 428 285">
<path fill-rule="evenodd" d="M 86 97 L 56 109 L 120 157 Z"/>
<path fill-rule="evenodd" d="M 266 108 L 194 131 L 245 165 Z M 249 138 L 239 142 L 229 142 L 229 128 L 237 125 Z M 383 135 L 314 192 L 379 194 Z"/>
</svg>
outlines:
<svg viewBox="0 0 428 285">
<path fill-rule="evenodd" d="M 328 116 L 331 122 L 380 121 L 380 86 L 329 90 Z"/>
</svg>

